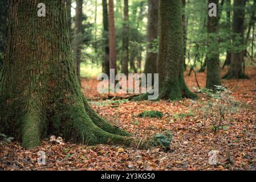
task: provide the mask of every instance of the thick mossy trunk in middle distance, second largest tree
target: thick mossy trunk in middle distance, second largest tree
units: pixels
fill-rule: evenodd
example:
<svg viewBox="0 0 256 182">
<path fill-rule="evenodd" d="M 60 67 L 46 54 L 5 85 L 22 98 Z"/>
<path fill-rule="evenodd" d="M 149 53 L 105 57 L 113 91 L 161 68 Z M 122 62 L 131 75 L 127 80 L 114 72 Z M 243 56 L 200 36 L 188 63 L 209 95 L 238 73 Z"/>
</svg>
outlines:
<svg viewBox="0 0 256 182">
<path fill-rule="evenodd" d="M 182 3 L 160 0 L 159 98 L 195 98 L 185 84 L 183 70 Z"/>
</svg>

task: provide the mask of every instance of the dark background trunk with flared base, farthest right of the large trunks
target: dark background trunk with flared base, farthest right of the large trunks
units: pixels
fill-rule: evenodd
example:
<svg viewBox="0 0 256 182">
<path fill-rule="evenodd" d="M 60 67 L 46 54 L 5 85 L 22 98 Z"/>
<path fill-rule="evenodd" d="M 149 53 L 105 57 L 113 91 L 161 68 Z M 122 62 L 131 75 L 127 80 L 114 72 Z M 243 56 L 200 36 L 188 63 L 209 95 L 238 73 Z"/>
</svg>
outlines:
<svg viewBox="0 0 256 182">
<path fill-rule="evenodd" d="M 234 0 L 234 13 L 233 13 L 233 44 L 239 39 L 239 46 L 244 45 L 244 22 L 245 22 L 245 0 Z M 224 78 L 227 79 L 239 79 L 247 78 L 247 76 L 242 71 L 243 63 L 243 50 L 239 52 L 231 53 L 231 64 L 229 71 Z"/>
</svg>

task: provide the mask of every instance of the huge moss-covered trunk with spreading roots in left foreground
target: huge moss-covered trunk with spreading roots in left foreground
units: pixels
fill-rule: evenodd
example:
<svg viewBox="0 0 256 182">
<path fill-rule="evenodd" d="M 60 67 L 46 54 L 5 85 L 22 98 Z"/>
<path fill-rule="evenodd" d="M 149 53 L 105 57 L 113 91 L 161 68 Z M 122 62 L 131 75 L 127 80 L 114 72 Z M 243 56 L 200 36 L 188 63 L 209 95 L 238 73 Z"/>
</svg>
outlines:
<svg viewBox="0 0 256 182">
<path fill-rule="evenodd" d="M 99 117 L 84 98 L 72 62 L 64 1 L 9 1 L 7 47 L 0 77 L 0 133 L 26 148 L 50 135 L 85 144 L 126 144 L 124 130 Z"/>
</svg>

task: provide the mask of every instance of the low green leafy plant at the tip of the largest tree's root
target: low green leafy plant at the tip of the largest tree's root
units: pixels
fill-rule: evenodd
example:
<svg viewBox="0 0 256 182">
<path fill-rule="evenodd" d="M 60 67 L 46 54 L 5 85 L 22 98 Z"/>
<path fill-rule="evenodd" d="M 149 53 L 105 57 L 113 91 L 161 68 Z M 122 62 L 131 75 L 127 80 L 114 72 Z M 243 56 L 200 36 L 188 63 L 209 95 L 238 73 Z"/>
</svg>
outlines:
<svg viewBox="0 0 256 182">
<path fill-rule="evenodd" d="M 170 131 L 164 131 L 161 134 L 155 135 L 153 141 L 155 145 L 167 148 L 170 146 L 170 142 L 172 142 L 172 133 Z"/>
</svg>

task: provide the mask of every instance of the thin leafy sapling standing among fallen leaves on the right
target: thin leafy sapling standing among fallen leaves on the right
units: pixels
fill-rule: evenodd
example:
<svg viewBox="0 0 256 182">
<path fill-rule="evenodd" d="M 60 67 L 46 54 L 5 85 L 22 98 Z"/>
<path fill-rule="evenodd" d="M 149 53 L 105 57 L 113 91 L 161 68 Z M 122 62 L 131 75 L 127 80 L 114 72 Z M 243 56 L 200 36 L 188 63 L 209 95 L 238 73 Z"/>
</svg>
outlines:
<svg viewBox="0 0 256 182">
<path fill-rule="evenodd" d="M 200 91 L 209 97 L 206 102 L 204 113 L 206 117 L 212 118 L 213 131 L 226 130 L 227 126 L 224 125 L 226 115 L 233 113 L 237 108 L 237 102 L 234 101 L 233 97 L 230 96 L 231 92 L 227 90 L 224 86 L 214 85 L 215 90 L 211 89 L 201 89 Z"/>
</svg>

